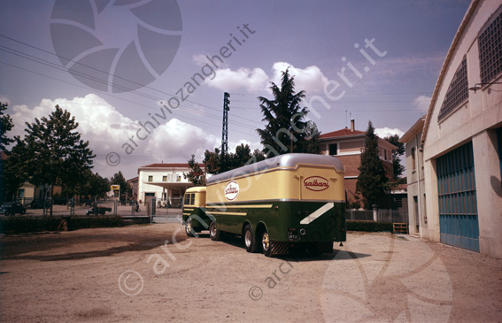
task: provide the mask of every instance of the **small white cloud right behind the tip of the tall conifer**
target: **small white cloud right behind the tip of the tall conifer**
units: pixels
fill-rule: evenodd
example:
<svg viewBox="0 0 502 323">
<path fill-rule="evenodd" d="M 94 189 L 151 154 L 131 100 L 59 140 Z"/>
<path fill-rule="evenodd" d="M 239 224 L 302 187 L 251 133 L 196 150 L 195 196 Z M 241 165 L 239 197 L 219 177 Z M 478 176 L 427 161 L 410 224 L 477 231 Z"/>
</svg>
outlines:
<svg viewBox="0 0 502 323">
<path fill-rule="evenodd" d="M 276 85 L 281 85 L 282 72 L 286 71 L 288 67 L 290 67 L 290 75 L 295 77 L 295 89 L 297 91 L 305 90 L 308 95 L 322 93 L 324 84 L 329 81 L 321 69 L 315 65 L 297 68 L 286 62 L 276 62 L 272 67 L 274 73 L 272 81 Z"/>
</svg>

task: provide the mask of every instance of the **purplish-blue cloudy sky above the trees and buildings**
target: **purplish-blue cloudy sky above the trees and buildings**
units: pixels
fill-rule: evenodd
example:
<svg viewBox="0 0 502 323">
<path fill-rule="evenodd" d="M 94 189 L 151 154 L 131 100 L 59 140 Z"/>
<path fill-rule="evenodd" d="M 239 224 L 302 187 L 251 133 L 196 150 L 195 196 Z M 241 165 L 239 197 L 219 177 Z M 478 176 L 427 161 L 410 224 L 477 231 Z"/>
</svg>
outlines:
<svg viewBox="0 0 502 323">
<path fill-rule="evenodd" d="M 289 68 L 322 133 L 403 135 L 430 96 L 470 1 L 3 0 L 0 101 L 15 127 L 58 104 L 94 172 L 127 179 L 221 145 L 262 149 L 258 96 Z"/>
</svg>

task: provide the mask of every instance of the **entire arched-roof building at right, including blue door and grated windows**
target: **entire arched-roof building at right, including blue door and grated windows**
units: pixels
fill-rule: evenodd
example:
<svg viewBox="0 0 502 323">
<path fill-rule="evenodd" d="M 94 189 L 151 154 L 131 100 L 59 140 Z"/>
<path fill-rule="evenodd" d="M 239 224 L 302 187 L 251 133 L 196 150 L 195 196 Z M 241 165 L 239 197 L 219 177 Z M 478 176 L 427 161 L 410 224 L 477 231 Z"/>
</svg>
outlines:
<svg viewBox="0 0 502 323">
<path fill-rule="evenodd" d="M 422 238 L 502 258 L 501 142 L 502 5 L 474 0 L 424 122 Z"/>
</svg>

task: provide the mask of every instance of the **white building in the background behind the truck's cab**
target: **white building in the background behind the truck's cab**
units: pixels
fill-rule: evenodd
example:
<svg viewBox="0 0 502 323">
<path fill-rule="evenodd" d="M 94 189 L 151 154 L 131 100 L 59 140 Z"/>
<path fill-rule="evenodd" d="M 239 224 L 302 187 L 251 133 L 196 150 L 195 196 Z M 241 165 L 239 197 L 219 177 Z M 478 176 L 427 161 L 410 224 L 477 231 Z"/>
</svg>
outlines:
<svg viewBox="0 0 502 323">
<path fill-rule="evenodd" d="M 199 165 L 204 171 L 204 165 Z M 181 205 L 181 197 L 185 190 L 193 184 L 184 178 L 189 173 L 188 164 L 151 164 L 138 168 L 137 199 L 144 204 L 155 196 L 171 207 Z"/>
</svg>

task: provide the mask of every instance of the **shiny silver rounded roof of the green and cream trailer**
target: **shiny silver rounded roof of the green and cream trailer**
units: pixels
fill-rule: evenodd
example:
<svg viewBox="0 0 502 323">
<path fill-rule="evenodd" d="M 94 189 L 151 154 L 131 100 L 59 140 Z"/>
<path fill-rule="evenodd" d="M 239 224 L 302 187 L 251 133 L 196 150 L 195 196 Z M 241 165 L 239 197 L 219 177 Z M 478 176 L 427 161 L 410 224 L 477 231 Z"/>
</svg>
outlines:
<svg viewBox="0 0 502 323">
<path fill-rule="evenodd" d="M 274 168 L 295 168 L 298 164 L 334 166 L 338 172 L 344 172 L 344 165 L 338 158 L 326 155 L 294 153 L 267 158 L 255 164 L 245 165 L 225 173 L 213 175 L 207 180 L 207 184 L 227 181 L 251 173 L 273 170 Z"/>
</svg>

